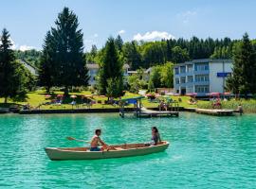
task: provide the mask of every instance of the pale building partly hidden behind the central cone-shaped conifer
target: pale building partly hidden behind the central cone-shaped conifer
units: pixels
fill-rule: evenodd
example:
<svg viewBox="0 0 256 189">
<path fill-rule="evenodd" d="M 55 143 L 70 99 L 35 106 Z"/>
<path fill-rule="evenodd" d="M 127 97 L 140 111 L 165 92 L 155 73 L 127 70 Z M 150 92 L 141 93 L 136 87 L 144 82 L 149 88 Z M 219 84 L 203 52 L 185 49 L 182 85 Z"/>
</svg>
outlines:
<svg viewBox="0 0 256 189">
<path fill-rule="evenodd" d="M 96 85 L 96 77 L 98 75 L 99 72 L 99 64 L 98 63 L 87 63 L 86 67 L 88 68 L 88 74 L 90 76 L 88 84 L 93 86 Z M 129 70 L 130 66 L 128 64 L 124 64 L 123 65 L 123 76 L 124 78 L 128 77 L 128 70 Z"/>
</svg>

